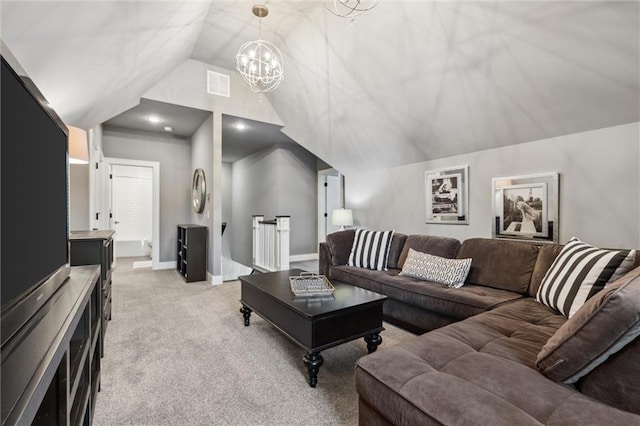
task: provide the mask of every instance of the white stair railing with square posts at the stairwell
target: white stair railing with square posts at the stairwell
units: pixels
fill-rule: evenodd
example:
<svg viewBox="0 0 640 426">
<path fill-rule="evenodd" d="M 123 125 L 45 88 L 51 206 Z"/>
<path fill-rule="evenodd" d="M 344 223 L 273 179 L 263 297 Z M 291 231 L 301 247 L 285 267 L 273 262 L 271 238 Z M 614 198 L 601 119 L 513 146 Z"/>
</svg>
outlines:
<svg viewBox="0 0 640 426">
<path fill-rule="evenodd" d="M 263 215 L 254 215 L 253 269 L 260 272 L 289 269 L 290 216 L 276 216 L 275 220 L 264 220 Z"/>
</svg>

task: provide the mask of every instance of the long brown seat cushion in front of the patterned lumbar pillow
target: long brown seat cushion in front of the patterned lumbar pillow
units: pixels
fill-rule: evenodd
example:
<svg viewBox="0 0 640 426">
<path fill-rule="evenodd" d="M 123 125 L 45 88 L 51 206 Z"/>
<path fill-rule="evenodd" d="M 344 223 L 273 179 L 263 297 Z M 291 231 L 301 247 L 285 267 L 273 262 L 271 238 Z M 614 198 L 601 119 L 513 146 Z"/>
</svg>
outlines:
<svg viewBox="0 0 640 426">
<path fill-rule="evenodd" d="M 476 285 L 447 288 L 400 276 L 399 273 L 397 269 L 371 271 L 352 266 L 334 266 L 329 270 L 329 278 L 456 319 L 467 318 L 522 297 L 510 291 Z"/>
</svg>

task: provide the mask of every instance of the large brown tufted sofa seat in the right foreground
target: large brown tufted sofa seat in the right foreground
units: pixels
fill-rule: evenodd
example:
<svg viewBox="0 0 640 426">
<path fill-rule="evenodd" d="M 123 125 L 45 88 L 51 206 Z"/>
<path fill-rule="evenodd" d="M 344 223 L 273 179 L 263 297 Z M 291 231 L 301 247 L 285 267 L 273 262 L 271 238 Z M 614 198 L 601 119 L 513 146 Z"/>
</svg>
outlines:
<svg viewBox="0 0 640 426">
<path fill-rule="evenodd" d="M 533 299 L 519 300 L 360 358 L 356 390 L 393 424 L 637 421 L 531 368 L 536 348 L 565 321 Z"/>
</svg>

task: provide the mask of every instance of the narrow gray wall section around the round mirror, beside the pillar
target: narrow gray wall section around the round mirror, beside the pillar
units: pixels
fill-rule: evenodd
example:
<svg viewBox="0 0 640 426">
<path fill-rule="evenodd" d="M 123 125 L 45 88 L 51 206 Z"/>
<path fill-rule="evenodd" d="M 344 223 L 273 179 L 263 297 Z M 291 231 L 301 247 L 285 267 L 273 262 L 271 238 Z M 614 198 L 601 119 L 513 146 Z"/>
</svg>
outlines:
<svg viewBox="0 0 640 426">
<path fill-rule="evenodd" d="M 213 188 L 213 115 L 202 123 L 202 125 L 191 136 L 191 169 L 190 173 L 201 168 L 204 170 L 205 181 L 207 184 L 207 194 L 211 194 Z M 191 188 L 191 183 L 189 184 Z M 204 210 L 202 213 L 191 211 L 191 223 L 207 227 L 207 272 L 213 274 L 213 257 L 211 256 L 211 247 L 213 246 L 212 231 L 212 200 L 207 197 Z"/>
</svg>

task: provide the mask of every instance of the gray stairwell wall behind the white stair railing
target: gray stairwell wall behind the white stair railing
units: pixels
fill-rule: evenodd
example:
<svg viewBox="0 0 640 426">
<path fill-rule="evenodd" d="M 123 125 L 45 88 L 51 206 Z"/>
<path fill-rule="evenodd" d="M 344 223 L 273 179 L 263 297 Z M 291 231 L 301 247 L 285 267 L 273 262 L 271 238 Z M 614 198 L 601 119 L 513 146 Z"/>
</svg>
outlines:
<svg viewBox="0 0 640 426">
<path fill-rule="evenodd" d="M 302 147 L 278 146 L 233 163 L 233 260 L 251 265 L 251 216 L 291 216 L 290 253 L 317 253 L 316 159 Z M 228 231 L 225 231 L 225 234 Z"/>
</svg>

